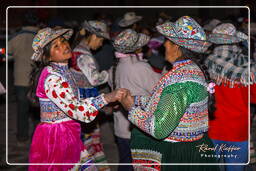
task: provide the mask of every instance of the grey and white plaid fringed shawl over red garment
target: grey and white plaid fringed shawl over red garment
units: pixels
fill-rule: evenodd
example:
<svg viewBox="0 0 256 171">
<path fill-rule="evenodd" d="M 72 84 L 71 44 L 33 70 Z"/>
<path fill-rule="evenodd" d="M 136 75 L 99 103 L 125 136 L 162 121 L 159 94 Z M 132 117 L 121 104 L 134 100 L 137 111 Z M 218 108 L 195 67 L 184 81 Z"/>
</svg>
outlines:
<svg viewBox="0 0 256 171">
<path fill-rule="evenodd" d="M 216 84 L 248 86 L 256 83 L 256 62 L 249 65 L 248 55 L 242 53 L 237 45 L 220 45 L 213 50 L 206 60 L 210 77 Z M 250 73 L 248 67 L 250 66 Z"/>
</svg>

